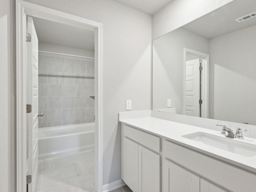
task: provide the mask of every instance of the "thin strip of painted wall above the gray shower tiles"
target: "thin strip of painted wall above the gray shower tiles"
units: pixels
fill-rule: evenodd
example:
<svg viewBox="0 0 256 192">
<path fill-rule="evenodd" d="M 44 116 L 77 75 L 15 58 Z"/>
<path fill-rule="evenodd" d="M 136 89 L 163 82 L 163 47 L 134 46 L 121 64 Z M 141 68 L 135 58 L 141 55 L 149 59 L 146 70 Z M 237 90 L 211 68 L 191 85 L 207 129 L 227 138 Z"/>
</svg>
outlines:
<svg viewBox="0 0 256 192">
<path fill-rule="evenodd" d="M 94 58 L 94 51 L 38 42 L 38 50 Z"/>
</svg>

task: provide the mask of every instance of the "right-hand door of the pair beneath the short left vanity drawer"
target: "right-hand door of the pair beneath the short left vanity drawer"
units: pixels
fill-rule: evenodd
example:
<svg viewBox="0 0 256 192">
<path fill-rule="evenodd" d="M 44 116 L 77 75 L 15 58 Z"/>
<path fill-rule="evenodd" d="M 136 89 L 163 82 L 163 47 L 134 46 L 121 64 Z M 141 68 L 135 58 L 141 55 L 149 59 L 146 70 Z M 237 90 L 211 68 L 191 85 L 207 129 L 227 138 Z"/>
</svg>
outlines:
<svg viewBox="0 0 256 192">
<path fill-rule="evenodd" d="M 139 192 L 160 192 L 160 155 L 140 145 Z"/>
</svg>

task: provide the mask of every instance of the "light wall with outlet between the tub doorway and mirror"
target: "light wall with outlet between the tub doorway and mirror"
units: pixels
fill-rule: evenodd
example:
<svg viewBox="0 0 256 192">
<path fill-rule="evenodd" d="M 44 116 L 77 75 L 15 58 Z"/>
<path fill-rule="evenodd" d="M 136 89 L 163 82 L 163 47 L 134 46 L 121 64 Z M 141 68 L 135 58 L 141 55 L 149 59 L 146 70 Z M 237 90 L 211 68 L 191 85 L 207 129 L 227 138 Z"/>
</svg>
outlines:
<svg viewBox="0 0 256 192">
<path fill-rule="evenodd" d="M 103 23 L 103 184 L 121 179 L 125 100 L 151 109 L 152 17 L 112 0 L 27 0 Z"/>
</svg>

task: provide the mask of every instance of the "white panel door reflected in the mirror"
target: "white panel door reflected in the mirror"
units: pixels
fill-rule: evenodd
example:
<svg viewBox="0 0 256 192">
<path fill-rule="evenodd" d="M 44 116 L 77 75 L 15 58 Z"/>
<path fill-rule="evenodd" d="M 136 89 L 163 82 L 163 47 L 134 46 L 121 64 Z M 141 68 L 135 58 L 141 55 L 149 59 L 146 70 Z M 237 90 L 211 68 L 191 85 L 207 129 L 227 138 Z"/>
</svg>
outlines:
<svg viewBox="0 0 256 192">
<path fill-rule="evenodd" d="M 200 61 L 186 61 L 185 115 L 199 117 Z"/>
</svg>

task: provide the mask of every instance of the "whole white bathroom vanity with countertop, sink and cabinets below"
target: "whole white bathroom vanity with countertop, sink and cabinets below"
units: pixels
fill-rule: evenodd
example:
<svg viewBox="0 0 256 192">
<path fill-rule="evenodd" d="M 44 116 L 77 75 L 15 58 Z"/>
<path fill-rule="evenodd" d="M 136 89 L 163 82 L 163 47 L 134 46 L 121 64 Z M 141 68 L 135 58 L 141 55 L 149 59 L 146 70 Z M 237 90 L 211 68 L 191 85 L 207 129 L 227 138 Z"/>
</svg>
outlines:
<svg viewBox="0 0 256 192">
<path fill-rule="evenodd" d="M 168 120 L 168 113 L 159 111 L 119 113 L 119 122 L 122 179 L 133 192 L 256 189 L 254 138 L 226 137 L 219 127 L 174 122 Z"/>
</svg>

